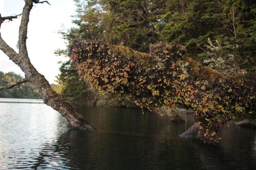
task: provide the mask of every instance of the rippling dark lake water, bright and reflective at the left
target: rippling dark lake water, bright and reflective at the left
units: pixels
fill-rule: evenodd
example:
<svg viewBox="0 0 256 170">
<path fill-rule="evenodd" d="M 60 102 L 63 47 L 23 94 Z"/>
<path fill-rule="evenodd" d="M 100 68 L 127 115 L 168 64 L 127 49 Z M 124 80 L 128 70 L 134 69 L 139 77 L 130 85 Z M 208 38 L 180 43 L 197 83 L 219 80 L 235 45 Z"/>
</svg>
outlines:
<svg viewBox="0 0 256 170">
<path fill-rule="evenodd" d="M 72 130 L 44 104 L 0 103 L 0 169 L 255 169 L 256 132 L 229 123 L 215 146 L 137 109 L 80 108 L 97 132 Z"/>
</svg>

